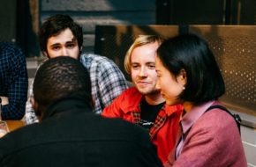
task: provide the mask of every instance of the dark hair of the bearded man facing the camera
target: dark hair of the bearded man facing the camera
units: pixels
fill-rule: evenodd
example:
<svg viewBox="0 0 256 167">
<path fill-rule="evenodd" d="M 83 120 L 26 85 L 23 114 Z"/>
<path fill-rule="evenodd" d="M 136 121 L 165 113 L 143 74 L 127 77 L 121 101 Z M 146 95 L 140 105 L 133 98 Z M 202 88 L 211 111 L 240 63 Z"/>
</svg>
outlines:
<svg viewBox="0 0 256 167">
<path fill-rule="evenodd" d="M 74 22 L 69 15 L 56 14 L 46 19 L 39 31 L 39 43 L 41 51 L 47 51 L 47 42 L 50 37 L 56 36 L 69 28 L 75 39 L 78 40 L 79 49 L 83 46 L 83 29 Z"/>
</svg>

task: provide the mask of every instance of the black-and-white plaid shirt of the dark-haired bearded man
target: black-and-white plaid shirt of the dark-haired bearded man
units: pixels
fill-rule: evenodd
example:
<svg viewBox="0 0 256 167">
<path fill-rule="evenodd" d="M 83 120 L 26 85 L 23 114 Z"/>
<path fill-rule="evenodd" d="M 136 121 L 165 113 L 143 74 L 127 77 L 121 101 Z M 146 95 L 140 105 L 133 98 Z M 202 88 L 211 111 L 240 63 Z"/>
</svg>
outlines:
<svg viewBox="0 0 256 167">
<path fill-rule="evenodd" d="M 94 98 L 94 113 L 102 113 L 104 107 L 110 105 L 128 85 L 123 73 L 115 62 L 107 57 L 96 54 L 82 54 L 80 62 L 87 68 L 91 77 L 92 96 Z M 33 96 L 33 87 L 30 86 L 29 94 Z M 26 124 L 38 121 L 30 100 L 26 102 Z"/>
</svg>

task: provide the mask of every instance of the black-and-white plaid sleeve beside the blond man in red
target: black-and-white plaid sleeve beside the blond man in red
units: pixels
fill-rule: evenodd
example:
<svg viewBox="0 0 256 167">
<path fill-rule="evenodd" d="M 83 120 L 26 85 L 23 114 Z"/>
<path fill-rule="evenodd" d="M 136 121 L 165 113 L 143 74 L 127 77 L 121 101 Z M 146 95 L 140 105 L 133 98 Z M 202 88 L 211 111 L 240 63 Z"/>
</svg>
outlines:
<svg viewBox="0 0 256 167">
<path fill-rule="evenodd" d="M 117 65 L 111 60 L 102 62 L 99 69 L 98 85 L 104 107 L 128 88 L 125 77 Z"/>
</svg>

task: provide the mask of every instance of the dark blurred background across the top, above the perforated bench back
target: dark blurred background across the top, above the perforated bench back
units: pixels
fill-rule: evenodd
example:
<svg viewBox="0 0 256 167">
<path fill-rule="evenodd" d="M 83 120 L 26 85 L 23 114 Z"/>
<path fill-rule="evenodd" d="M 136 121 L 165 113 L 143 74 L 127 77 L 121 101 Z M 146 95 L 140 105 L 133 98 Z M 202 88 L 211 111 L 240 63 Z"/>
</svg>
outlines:
<svg viewBox="0 0 256 167">
<path fill-rule="evenodd" d="M 94 52 L 95 25 L 255 25 L 255 0 L 8 0 L 0 2 L 0 40 L 39 56 L 38 29 L 56 13 L 84 28 L 84 51 Z"/>
</svg>

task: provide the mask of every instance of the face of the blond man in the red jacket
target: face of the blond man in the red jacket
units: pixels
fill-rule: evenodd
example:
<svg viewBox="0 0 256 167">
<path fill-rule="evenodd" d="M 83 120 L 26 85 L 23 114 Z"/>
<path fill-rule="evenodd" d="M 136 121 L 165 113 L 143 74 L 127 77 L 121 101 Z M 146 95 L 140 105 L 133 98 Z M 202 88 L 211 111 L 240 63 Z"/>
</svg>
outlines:
<svg viewBox="0 0 256 167">
<path fill-rule="evenodd" d="M 157 42 L 135 47 L 132 51 L 131 76 L 132 82 L 143 95 L 157 93 L 155 89 L 157 75 L 155 72 L 155 51 L 159 47 Z"/>
</svg>

